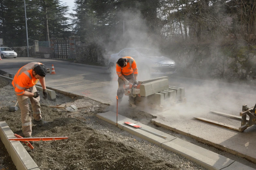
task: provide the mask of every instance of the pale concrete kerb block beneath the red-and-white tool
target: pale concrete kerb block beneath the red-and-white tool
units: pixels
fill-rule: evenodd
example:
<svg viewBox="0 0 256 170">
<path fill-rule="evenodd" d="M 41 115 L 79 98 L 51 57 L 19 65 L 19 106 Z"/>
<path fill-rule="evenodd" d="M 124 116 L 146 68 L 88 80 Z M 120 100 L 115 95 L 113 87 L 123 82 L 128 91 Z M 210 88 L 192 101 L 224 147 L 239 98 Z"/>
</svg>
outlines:
<svg viewBox="0 0 256 170">
<path fill-rule="evenodd" d="M 172 141 L 174 139 L 176 139 L 176 137 L 172 136 L 172 135 L 169 135 L 165 132 L 162 132 L 162 131 L 159 131 L 159 130 L 156 130 L 150 126 L 147 126 L 147 125 L 144 125 L 142 123 L 139 123 L 137 122 L 136 125 L 139 125 L 139 126 L 142 126 L 143 129 L 146 129 L 146 130 L 149 130 L 149 131 L 152 131 L 154 133 L 157 133 L 157 134 L 160 134 L 160 135 L 163 135 L 165 137 L 167 137 L 166 139 L 165 138 L 162 138 L 160 136 L 157 136 L 155 134 L 152 134 L 150 132 L 147 132 L 147 131 L 143 131 L 141 128 L 135 128 L 135 127 L 132 127 L 132 126 L 124 126 L 123 127 L 123 130 L 125 131 L 128 131 L 142 139 L 145 139 L 153 144 L 156 144 L 156 145 L 159 145 L 161 146 L 162 143 L 164 142 L 169 142 L 169 141 Z"/>
</svg>

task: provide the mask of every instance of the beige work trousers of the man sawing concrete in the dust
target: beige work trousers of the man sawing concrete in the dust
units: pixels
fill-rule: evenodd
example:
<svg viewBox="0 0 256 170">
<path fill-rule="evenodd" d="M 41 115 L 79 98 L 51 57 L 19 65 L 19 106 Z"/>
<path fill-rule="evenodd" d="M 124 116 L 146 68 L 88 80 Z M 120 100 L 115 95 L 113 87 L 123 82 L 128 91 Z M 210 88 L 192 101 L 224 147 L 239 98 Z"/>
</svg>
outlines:
<svg viewBox="0 0 256 170">
<path fill-rule="evenodd" d="M 134 74 L 130 74 L 130 75 L 123 75 L 124 78 L 126 80 L 128 80 L 130 83 L 134 83 Z M 124 93 L 124 89 L 123 89 L 123 85 L 124 85 L 124 81 L 118 77 L 118 89 L 117 89 L 117 97 L 118 97 L 118 103 L 121 103 L 122 99 L 123 99 L 123 93 Z M 133 96 L 129 95 L 129 104 L 134 104 L 135 103 L 135 98 Z"/>
</svg>

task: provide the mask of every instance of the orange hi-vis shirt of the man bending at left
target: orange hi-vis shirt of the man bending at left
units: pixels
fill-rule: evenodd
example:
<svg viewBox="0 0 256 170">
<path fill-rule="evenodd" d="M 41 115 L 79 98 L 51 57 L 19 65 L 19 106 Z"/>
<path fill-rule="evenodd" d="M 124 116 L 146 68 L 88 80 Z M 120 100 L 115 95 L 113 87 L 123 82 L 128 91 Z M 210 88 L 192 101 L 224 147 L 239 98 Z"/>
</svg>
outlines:
<svg viewBox="0 0 256 170">
<path fill-rule="evenodd" d="M 27 65 L 20 68 L 20 70 L 15 74 L 12 81 L 12 86 L 15 88 L 15 93 L 20 96 L 24 94 L 26 88 L 33 87 L 37 84 L 39 79 L 33 76 L 33 69 L 35 64 L 42 64 L 39 62 L 28 63 Z"/>
</svg>

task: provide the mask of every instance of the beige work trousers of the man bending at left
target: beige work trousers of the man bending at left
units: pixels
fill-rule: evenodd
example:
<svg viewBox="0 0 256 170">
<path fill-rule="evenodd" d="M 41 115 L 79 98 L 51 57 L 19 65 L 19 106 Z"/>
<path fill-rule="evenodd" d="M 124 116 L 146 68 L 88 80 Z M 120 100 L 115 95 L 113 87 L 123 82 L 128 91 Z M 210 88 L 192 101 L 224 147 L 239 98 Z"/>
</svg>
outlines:
<svg viewBox="0 0 256 170">
<path fill-rule="evenodd" d="M 31 93 L 35 93 L 37 91 L 36 87 L 33 86 L 31 88 L 26 88 L 24 91 L 28 91 Z M 39 121 L 42 119 L 41 111 L 40 111 L 40 97 L 33 98 L 27 96 L 17 96 L 17 100 L 21 109 L 21 123 L 22 123 L 22 132 L 25 137 L 31 136 L 32 134 L 32 116 L 31 111 L 29 109 L 28 98 L 31 102 L 32 110 L 33 110 L 33 117 L 35 120 Z"/>
</svg>

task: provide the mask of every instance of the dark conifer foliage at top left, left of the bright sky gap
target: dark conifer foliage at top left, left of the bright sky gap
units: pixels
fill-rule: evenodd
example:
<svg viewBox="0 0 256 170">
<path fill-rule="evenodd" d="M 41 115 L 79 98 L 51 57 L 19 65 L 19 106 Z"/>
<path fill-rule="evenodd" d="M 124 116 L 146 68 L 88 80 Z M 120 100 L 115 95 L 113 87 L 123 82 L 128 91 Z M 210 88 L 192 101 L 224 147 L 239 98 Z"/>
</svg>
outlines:
<svg viewBox="0 0 256 170">
<path fill-rule="evenodd" d="M 45 4 L 46 2 L 46 4 Z M 45 41 L 45 12 L 49 34 L 56 38 L 70 36 L 68 6 L 59 0 L 25 0 L 29 44 L 33 40 Z M 10 47 L 26 46 L 24 0 L 0 0 L 0 38 Z"/>
</svg>

